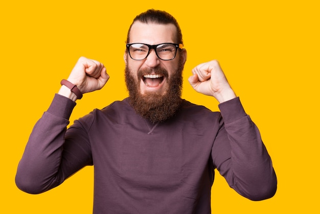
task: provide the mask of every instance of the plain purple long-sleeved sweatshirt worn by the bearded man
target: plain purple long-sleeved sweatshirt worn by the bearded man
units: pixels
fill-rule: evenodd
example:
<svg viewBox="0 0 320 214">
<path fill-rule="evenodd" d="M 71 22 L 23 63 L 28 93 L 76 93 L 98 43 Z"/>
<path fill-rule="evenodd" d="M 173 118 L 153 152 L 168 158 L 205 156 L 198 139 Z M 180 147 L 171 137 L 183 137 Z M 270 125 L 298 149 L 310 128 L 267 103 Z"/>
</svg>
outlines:
<svg viewBox="0 0 320 214">
<path fill-rule="evenodd" d="M 17 186 L 39 194 L 94 165 L 94 213 L 211 213 L 214 169 L 250 200 L 272 197 L 277 178 L 259 130 L 239 98 L 220 112 L 186 100 L 152 124 L 128 99 L 76 120 L 75 102 L 56 95 L 34 126 L 18 165 Z"/>
</svg>

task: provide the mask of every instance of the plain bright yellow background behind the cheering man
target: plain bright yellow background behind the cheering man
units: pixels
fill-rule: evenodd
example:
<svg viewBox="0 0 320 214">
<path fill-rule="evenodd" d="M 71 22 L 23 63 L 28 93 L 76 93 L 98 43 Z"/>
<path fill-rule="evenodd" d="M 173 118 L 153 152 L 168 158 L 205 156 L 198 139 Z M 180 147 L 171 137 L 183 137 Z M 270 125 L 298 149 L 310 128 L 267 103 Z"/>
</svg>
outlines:
<svg viewBox="0 0 320 214">
<path fill-rule="evenodd" d="M 258 125 L 278 176 L 275 197 L 253 202 L 216 176 L 213 213 L 318 213 L 319 5 L 317 1 L 2 1 L 0 213 L 91 213 L 93 167 L 40 195 L 14 177 L 34 123 L 80 56 L 103 62 L 106 87 L 85 94 L 71 121 L 127 96 L 123 52 L 132 19 L 149 8 L 174 15 L 188 60 L 183 97 L 218 110 L 187 82 L 218 59 Z"/>
</svg>

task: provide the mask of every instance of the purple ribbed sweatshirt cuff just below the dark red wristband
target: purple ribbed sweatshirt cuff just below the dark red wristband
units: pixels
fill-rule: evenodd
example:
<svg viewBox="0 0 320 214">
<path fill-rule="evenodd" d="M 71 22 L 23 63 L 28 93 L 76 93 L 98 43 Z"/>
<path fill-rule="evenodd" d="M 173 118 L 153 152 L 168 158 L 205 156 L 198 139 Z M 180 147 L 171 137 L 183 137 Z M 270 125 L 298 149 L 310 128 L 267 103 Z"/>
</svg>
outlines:
<svg viewBox="0 0 320 214">
<path fill-rule="evenodd" d="M 47 112 L 69 120 L 76 102 L 59 94 L 55 94 Z"/>
</svg>

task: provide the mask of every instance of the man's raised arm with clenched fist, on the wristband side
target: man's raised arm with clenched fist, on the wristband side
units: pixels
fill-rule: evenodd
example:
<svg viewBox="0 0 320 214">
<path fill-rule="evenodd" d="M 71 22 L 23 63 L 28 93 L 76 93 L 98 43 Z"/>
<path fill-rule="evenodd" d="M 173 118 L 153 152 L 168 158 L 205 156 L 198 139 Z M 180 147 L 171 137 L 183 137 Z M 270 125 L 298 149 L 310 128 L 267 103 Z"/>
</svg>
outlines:
<svg viewBox="0 0 320 214">
<path fill-rule="evenodd" d="M 81 57 L 68 81 L 81 93 L 101 89 L 109 76 L 102 63 Z M 66 126 L 77 96 L 62 85 L 48 111 L 35 124 L 19 162 L 16 185 L 23 191 L 38 194 L 61 184 L 85 165 L 92 165 L 89 140 L 80 128 L 65 139 Z"/>
</svg>

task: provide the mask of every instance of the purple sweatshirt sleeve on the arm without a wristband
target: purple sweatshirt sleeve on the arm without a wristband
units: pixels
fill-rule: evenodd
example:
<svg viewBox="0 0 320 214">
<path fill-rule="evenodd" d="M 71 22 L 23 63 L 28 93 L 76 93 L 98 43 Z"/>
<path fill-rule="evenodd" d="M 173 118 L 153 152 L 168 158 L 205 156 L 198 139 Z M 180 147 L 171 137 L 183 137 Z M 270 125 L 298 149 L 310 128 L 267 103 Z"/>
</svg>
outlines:
<svg viewBox="0 0 320 214">
<path fill-rule="evenodd" d="M 239 98 L 219 108 L 223 122 L 212 149 L 215 167 L 240 195 L 254 201 L 272 197 L 277 177 L 257 126 Z"/>
</svg>

